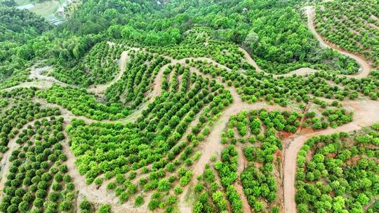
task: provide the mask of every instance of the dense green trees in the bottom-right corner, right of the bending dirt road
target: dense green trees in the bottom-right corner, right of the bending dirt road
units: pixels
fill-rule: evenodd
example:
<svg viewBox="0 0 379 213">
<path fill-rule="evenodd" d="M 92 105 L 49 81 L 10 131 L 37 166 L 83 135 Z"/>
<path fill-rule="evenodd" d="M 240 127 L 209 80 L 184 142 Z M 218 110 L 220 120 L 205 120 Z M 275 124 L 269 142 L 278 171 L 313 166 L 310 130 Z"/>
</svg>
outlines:
<svg viewBox="0 0 379 213">
<path fill-rule="evenodd" d="M 298 212 L 378 212 L 379 125 L 309 139 L 298 153 Z"/>
</svg>

